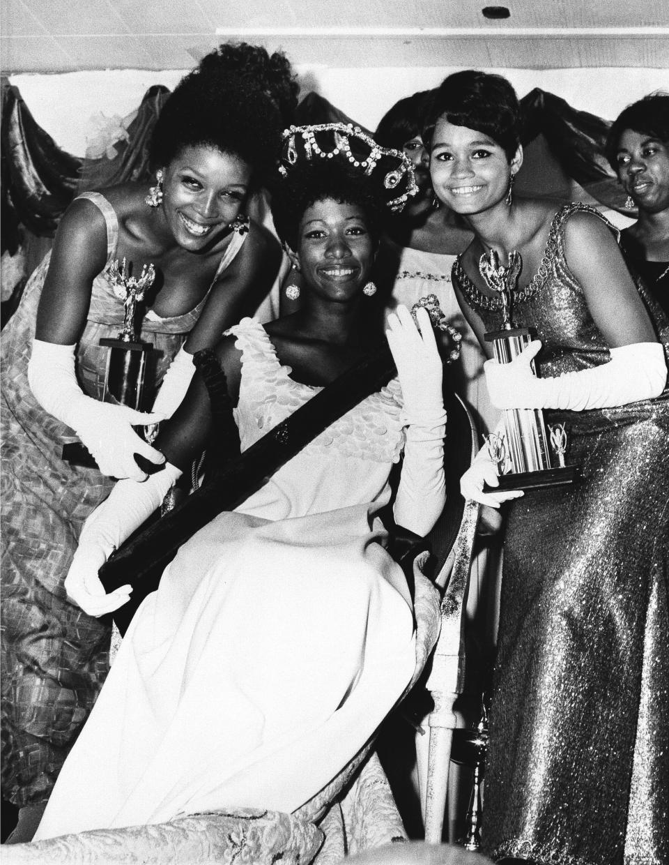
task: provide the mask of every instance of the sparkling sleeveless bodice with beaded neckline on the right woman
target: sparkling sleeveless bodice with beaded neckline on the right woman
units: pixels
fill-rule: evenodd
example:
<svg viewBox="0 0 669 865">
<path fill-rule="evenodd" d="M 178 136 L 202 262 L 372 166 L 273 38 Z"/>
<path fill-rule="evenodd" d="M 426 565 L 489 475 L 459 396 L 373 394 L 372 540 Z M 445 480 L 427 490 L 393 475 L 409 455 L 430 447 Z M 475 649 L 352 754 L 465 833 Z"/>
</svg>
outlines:
<svg viewBox="0 0 669 865">
<path fill-rule="evenodd" d="M 553 217 L 538 272 L 530 282 L 513 293 L 513 324 L 533 327 L 544 343 L 542 375 L 561 375 L 608 362 L 608 345 L 592 316 L 583 288 L 564 257 L 564 223 L 573 213 L 596 215 L 617 234 L 595 208 L 572 202 Z M 462 268 L 460 257 L 453 266 L 453 280 L 467 303 L 481 317 L 486 330 L 500 330 L 500 298 L 479 291 Z"/>
</svg>

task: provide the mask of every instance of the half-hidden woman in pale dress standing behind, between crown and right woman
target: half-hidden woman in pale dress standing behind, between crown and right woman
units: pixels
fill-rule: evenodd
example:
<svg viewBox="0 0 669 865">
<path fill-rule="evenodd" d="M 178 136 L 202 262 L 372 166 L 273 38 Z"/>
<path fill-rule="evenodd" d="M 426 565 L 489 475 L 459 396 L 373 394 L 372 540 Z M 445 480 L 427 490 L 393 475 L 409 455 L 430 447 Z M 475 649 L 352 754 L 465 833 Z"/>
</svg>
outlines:
<svg viewBox="0 0 669 865">
<path fill-rule="evenodd" d="M 433 96 L 434 91 L 424 90 L 400 99 L 385 113 L 374 133 L 379 144 L 404 151 L 411 159 L 418 188 L 400 214 L 389 214 L 385 220 L 376 272 L 382 299 L 389 309 L 395 304 L 411 309 L 420 298 L 436 295 L 449 324 L 462 335 L 459 361 L 449 368 L 450 381 L 474 409 L 481 432 L 487 432 L 495 413 L 482 379 L 485 356 L 462 316 L 450 282 L 456 255 L 468 246 L 472 234 L 436 198 L 430 182 L 430 154 L 422 138 Z M 449 343 L 445 353 L 452 347 Z"/>
</svg>

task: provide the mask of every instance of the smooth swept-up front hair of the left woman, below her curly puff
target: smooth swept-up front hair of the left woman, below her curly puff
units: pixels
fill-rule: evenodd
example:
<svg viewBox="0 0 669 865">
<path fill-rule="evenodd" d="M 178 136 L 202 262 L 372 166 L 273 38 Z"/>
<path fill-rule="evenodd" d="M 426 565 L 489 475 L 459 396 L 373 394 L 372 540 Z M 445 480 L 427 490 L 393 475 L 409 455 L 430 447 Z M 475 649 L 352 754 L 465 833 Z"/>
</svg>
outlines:
<svg viewBox="0 0 669 865">
<path fill-rule="evenodd" d="M 185 147 L 204 144 L 239 157 L 251 166 L 253 185 L 262 185 L 281 143 L 277 106 L 251 76 L 239 77 L 212 55 L 205 61 L 182 78 L 162 107 L 151 134 L 150 163 L 159 168 Z"/>
</svg>

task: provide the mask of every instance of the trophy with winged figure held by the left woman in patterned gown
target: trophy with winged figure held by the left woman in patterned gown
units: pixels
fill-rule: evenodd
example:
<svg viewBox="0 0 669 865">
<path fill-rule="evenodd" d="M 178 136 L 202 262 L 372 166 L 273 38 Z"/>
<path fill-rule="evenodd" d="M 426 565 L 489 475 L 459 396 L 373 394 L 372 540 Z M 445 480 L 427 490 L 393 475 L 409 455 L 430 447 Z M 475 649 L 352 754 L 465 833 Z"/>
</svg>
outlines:
<svg viewBox="0 0 669 865">
<path fill-rule="evenodd" d="M 124 322 L 123 330 L 116 339 L 105 337 L 99 341 L 100 345 L 107 348 L 102 401 L 141 411 L 146 356 L 153 346 L 141 342 L 137 336 L 135 319 L 137 304 L 143 301 L 144 295 L 156 279 L 156 268 L 152 264 L 144 265 L 139 279 L 136 279 L 128 275 L 126 260 L 123 259 L 119 268 L 116 259 L 112 262 L 108 275 L 114 294 L 124 302 Z M 97 465 L 81 442 L 63 445 L 62 458 L 70 465 Z"/>
</svg>

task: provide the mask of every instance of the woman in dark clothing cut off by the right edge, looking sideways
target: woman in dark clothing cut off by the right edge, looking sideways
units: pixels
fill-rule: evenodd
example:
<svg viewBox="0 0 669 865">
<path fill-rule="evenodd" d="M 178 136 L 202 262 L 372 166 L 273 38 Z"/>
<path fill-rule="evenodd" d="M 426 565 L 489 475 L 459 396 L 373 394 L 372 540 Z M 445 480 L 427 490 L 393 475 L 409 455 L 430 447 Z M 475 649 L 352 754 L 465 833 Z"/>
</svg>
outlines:
<svg viewBox="0 0 669 865">
<path fill-rule="evenodd" d="M 607 156 L 639 219 L 621 232 L 630 266 L 669 315 L 669 93 L 628 106 L 608 133 Z"/>
</svg>

